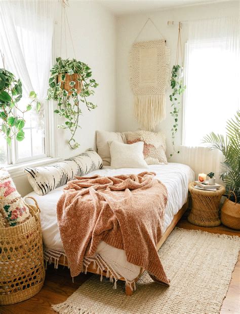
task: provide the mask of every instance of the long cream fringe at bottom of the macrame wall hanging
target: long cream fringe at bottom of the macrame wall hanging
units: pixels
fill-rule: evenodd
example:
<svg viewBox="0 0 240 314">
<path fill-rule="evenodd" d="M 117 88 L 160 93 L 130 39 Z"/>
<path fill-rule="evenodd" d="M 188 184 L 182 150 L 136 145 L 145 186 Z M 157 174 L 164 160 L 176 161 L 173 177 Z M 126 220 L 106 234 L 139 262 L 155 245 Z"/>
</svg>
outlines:
<svg viewBox="0 0 240 314">
<path fill-rule="evenodd" d="M 135 95 L 134 118 L 146 131 L 166 118 L 166 95 Z"/>
</svg>

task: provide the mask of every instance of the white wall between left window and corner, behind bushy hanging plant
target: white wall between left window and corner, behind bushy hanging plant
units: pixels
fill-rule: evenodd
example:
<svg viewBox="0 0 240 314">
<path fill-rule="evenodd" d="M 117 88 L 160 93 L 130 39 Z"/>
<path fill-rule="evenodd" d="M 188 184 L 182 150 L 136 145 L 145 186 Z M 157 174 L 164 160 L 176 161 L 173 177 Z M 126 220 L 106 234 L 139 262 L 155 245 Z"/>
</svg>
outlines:
<svg viewBox="0 0 240 314">
<path fill-rule="evenodd" d="M 82 129 L 76 132 L 76 139 L 81 146 L 71 150 L 67 146 L 69 132 L 56 130 L 57 156 L 70 157 L 84 152 L 86 149 L 95 148 L 95 131 L 97 129 L 115 130 L 115 56 L 116 56 L 116 23 L 115 17 L 102 5 L 96 2 L 69 1 L 70 7 L 66 8 L 71 29 L 76 58 L 88 63 L 92 69 L 93 78 L 99 83 L 91 101 L 98 108 L 89 112 L 82 104 L 83 115 L 79 119 Z M 54 33 L 54 54 L 60 54 L 60 27 L 61 5 L 58 3 Z M 68 31 L 68 29 L 67 29 Z M 67 32 L 67 57 L 74 57 L 69 34 Z M 64 37 L 63 37 L 64 38 Z M 65 43 L 62 40 L 62 58 L 65 55 Z M 89 97 L 90 98 L 90 97 Z M 57 124 L 61 124 L 55 115 Z M 14 182 L 21 195 L 32 191 L 26 176 L 14 178 Z"/>
</svg>

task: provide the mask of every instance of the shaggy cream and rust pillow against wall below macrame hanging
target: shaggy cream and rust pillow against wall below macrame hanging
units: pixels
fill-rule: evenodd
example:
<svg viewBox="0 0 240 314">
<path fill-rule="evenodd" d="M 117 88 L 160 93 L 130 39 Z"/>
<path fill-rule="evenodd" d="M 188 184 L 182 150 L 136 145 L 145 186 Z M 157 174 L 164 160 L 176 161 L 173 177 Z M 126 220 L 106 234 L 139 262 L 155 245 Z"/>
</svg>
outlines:
<svg viewBox="0 0 240 314">
<path fill-rule="evenodd" d="M 135 132 L 126 132 L 127 144 L 144 142 L 143 155 L 146 163 L 167 164 L 166 157 L 166 136 L 160 132 L 150 132 L 138 130 Z"/>
</svg>

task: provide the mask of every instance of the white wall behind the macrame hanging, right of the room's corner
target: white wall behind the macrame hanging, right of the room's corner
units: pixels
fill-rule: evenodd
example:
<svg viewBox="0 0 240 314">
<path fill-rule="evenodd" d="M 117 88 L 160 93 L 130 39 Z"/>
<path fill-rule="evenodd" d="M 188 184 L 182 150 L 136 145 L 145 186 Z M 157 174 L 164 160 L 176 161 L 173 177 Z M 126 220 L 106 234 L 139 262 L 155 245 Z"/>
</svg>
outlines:
<svg viewBox="0 0 240 314">
<path fill-rule="evenodd" d="M 214 18 L 219 16 L 238 15 L 239 2 L 232 1 L 203 6 L 183 7 L 175 10 L 157 11 L 146 14 L 134 14 L 117 18 L 117 131 L 135 130 L 139 126 L 133 117 L 133 93 L 129 84 L 129 51 L 142 26 L 150 17 L 167 40 L 167 46 L 171 49 L 171 69 L 175 63 L 178 22 L 182 23 L 182 43 L 184 58 L 184 43 L 188 37 L 187 20 Z M 174 25 L 168 26 L 168 21 L 174 21 Z M 186 22 L 185 22 L 186 21 Z M 148 22 L 138 41 L 159 39 L 159 34 L 154 26 Z M 169 95 L 171 88 L 167 90 L 167 118 L 161 122 L 156 130 L 163 129 L 167 134 L 167 156 L 171 150 L 171 128 L 173 118 L 170 115 L 171 103 Z M 176 135 L 176 145 L 182 144 L 182 112 L 179 114 L 179 128 Z M 179 156 L 175 155 L 171 161 L 177 161 Z"/>
</svg>

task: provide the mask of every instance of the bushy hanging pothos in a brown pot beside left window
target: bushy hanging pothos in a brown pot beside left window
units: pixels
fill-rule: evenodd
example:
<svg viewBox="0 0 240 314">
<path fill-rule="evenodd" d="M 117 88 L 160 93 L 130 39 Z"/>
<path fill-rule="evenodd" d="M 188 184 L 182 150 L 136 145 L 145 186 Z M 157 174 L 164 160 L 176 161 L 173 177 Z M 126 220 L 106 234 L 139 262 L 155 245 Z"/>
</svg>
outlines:
<svg viewBox="0 0 240 314">
<path fill-rule="evenodd" d="M 80 103 L 85 103 L 89 111 L 97 107 L 88 101 L 87 97 L 94 94 L 93 88 L 96 88 L 98 84 L 91 78 L 91 68 L 76 59 L 57 58 L 50 73 L 48 100 L 57 100 L 58 109 L 54 112 L 66 120 L 58 127 L 70 131 L 68 145 L 71 149 L 76 149 L 79 144 L 74 135 L 76 129 L 80 127 L 78 124 L 79 115 L 82 114 Z"/>
</svg>

